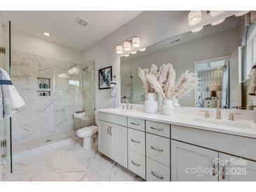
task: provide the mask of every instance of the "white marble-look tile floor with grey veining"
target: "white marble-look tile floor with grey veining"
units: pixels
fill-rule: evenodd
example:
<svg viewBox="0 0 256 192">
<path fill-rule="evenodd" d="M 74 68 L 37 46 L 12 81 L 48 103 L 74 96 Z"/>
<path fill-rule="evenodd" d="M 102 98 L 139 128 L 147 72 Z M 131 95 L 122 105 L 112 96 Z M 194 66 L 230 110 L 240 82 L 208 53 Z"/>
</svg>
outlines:
<svg viewBox="0 0 256 192">
<path fill-rule="evenodd" d="M 13 174 L 3 181 L 143 181 L 77 137 L 36 147 L 13 156 Z"/>
</svg>

